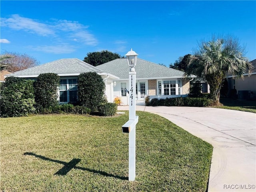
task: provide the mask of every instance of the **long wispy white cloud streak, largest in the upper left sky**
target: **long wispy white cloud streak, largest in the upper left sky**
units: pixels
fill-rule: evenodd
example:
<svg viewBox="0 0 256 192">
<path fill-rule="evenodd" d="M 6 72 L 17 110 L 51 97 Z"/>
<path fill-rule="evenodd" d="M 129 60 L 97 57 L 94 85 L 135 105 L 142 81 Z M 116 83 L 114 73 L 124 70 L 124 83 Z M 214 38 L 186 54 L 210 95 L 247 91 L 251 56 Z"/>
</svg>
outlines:
<svg viewBox="0 0 256 192">
<path fill-rule="evenodd" d="M 1 18 L 1 27 L 24 30 L 40 36 L 51 36 L 51 38 L 61 39 L 62 42 L 67 42 L 69 39 L 89 46 L 98 44 L 96 37 L 88 31 L 89 26 L 77 21 L 53 20 L 52 22 L 40 22 L 14 14 L 10 18 Z"/>
</svg>

